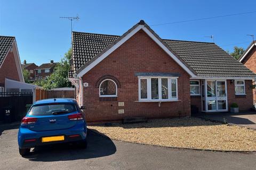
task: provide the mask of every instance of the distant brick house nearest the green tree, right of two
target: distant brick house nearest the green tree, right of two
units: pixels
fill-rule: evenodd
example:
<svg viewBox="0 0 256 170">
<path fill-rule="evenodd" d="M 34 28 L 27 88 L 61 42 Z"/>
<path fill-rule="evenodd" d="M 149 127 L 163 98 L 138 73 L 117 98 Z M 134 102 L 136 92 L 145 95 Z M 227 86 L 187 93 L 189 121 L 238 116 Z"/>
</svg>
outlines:
<svg viewBox="0 0 256 170">
<path fill-rule="evenodd" d="M 36 75 L 35 78 L 36 80 L 40 79 L 47 79 L 54 70 L 54 67 L 56 66 L 57 63 L 53 63 L 53 60 L 51 60 L 50 63 L 44 63 L 37 67 L 35 69 Z"/>
</svg>

